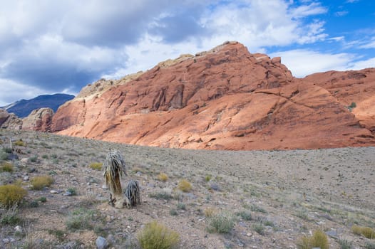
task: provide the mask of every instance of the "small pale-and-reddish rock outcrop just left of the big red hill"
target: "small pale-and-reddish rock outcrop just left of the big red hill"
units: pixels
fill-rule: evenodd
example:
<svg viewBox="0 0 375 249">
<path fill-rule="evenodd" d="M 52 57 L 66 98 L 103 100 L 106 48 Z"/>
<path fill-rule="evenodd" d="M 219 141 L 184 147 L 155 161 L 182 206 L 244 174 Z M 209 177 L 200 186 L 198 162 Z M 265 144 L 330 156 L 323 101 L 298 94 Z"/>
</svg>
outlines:
<svg viewBox="0 0 375 249">
<path fill-rule="evenodd" d="M 22 122 L 22 129 L 51 132 L 53 110 L 51 108 L 40 108 L 32 111 Z"/>
</svg>

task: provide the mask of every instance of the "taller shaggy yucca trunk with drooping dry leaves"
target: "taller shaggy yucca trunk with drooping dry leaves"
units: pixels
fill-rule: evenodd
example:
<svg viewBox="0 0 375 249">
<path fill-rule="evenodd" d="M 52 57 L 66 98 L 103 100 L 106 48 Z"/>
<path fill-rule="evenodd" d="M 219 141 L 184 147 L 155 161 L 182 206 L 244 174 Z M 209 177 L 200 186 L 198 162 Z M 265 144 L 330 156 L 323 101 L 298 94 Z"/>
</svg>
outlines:
<svg viewBox="0 0 375 249">
<path fill-rule="evenodd" d="M 125 175 L 127 175 L 125 161 L 120 152 L 109 152 L 103 164 L 103 176 L 106 178 L 106 185 L 111 191 L 109 201 L 115 208 L 130 205 L 128 198 L 123 196 L 123 189 L 121 188 L 120 177 Z"/>
</svg>

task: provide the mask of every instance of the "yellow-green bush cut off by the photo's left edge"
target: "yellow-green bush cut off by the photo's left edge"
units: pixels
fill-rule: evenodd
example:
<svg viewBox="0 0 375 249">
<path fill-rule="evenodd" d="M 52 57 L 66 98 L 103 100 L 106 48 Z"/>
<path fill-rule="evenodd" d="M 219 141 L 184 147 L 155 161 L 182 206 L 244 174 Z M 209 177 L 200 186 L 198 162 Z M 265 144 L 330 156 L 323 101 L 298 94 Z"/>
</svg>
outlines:
<svg viewBox="0 0 375 249">
<path fill-rule="evenodd" d="M 27 191 L 25 189 L 14 184 L 0 186 L 0 204 L 10 208 L 20 203 L 26 194 Z"/>
</svg>

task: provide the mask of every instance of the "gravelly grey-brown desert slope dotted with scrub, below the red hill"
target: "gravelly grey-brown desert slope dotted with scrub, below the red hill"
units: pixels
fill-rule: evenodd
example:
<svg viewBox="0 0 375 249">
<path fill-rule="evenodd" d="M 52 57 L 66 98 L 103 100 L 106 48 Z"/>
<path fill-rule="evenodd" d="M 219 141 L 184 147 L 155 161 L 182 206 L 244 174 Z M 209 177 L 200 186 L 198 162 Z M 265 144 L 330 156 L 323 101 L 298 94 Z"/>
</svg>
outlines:
<svg viewBox="0 0 375 249">
<path fill-rule="evenodd" d="M 375 147 L 204 151 L 10 130 L 0 130 L 0 143 L 0 164 L 14 166 L 0 172 L 0 185 L 28 191 L 14 210 L 1 208 L 0 248 L 96 248 L 99 236 L 109 248 L 139 248 L 138 234 L 151 221 L 178 232 L 178 248 L 297 248 L 317 230 L 327 233 L 330 248 L 375 248 L 374 239 L 351 231 L 375 228 Z M 110 149 L 126 161 L 123 188 L 139 182 L 139 206 L 108 204 L 103 174 L 91 166 Z M 19 158 L 7 160 L 12 153 Z M 36 176 L 51 176 L 53 184 L 33 190 Z M 181 179 L 190 191 L 178 190 Z M 217 233 L 212 213 L 222 211 L 235 226 Z M 72 226 L 75 219 L 82 226 Z"/>
</svg>

